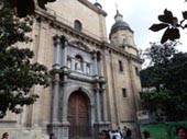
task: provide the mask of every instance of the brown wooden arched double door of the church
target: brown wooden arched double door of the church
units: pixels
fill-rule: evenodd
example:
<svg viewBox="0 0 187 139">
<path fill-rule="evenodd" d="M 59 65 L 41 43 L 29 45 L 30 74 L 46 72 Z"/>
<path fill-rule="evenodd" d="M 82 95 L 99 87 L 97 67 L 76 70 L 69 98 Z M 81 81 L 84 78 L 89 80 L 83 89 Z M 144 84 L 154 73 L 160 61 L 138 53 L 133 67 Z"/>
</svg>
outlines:
<svg viewBox="0 0 187 139">
<path fill-rule="evenodd" d="M 87 138 L 90 135 L 88 119 L 88 97 L 82 92 L 76 91 L 68 101 L 69 138 Z"/>
</svg>

